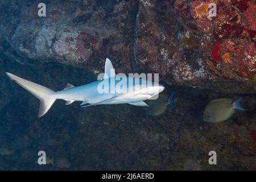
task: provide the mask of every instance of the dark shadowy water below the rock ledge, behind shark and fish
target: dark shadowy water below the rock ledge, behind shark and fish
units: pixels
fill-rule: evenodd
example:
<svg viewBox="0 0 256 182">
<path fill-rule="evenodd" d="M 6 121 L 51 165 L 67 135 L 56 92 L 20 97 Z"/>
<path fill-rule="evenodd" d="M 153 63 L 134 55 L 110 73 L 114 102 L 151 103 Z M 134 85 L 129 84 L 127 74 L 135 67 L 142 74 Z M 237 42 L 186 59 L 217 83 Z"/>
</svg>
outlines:
<svg viewBox="0 0 256 182">
<path fill-rule="evenodd" d="M 126 104 L 81 108 L 79 102 L 65 106 L 57 100 L 38 118 L 39 100 L 10 81 L 6 71 L 53 90 L 63 89 L 67 82 L 81 85 L 96 80 L 84 69 L 59 64 L 36 68 L 3 59 L 0 143 L 14 153 L 0 155 L 0 169 L 255 169 L 251 162 L 255 156 L 236 140 L 245 135 L 243 130 L 236 132 L 255 123 L 253 94 L 243 95 L 243 104 L 253 110 L 238 111 L 216 124 L 203 122 L 205 105 L 214 98 L 237 96 L 168 85 L 164 93 L 177 92 L 176 107 L 169 106 L 158 117 Z M 55 160 L 65 158 L 71 165 L 39 166 L 40 150 Z M 217 166 L 208 164 L 210 150 L 219 154 Z"/>
</svg>

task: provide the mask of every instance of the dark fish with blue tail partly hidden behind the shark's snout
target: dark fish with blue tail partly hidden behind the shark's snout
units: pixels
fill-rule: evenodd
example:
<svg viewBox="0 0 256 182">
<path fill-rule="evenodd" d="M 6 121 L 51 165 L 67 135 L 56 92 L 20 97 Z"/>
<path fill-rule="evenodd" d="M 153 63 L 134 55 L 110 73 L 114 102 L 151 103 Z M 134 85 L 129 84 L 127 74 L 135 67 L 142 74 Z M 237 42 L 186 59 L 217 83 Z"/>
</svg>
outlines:
<svg viewBox="0 0 256 182">
<path fill-rule="evenodd" d="M 159 94 L 157 100 L 148 100 L 147 104 L 150 106 L 147 110 L 147 115 L 156 116 L 163 114 L 166 111 L 168 105 L 175 107 L 174 103 L 174 94 L 172 93 L 171 96 L 167 94 Z"/>
</svg>

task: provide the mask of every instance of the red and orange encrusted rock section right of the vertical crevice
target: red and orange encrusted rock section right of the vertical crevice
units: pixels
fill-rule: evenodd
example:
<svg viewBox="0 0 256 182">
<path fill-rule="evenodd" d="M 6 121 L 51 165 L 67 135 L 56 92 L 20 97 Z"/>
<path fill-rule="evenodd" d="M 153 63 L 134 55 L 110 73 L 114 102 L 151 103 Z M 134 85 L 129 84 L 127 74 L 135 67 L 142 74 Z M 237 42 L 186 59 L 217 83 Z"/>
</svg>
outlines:
<svg viewBox="0 0 256 182">
<path fill-rule="evenodd" d="M 218 11 L 210 17 L 212 2 Z M 246 26 L 255 2 L 246 5 L 240 10 L 240 1 L 141 1 L 137 63 L 169 84 L 255 93 L 255 33 Z"/>
</svg>

